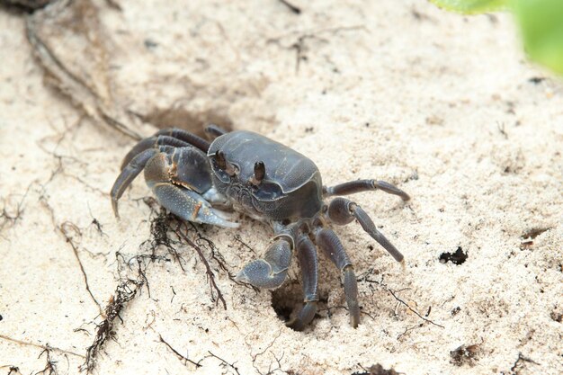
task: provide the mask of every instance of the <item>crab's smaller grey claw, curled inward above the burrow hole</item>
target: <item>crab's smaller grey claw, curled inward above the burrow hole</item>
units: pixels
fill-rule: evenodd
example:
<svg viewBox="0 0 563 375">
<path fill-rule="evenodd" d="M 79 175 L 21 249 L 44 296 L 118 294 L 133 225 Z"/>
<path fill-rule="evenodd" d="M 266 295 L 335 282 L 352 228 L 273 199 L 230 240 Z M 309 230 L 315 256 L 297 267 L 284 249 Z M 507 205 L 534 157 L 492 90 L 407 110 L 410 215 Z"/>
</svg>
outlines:
<svg viewBox="0 0 563 375">
<path fill-rule="evenodd" d="M 291 263 L 291 244 L 287 237 L 278 237 L 268 246 L 264 259 L 246 263 L 238 272 L 237 281 L 245 281 L 257 288 L 278 288 L 287 276 Z"/>
</svg>

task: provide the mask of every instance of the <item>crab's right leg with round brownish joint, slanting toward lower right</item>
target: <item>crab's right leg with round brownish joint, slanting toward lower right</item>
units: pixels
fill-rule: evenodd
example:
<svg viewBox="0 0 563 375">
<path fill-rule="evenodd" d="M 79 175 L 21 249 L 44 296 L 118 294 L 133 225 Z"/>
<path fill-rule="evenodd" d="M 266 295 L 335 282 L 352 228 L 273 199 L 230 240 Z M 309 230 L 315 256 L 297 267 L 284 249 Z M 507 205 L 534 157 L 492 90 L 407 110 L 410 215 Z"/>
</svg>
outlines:
<svg viewBox="0 0 563 375">
<path fill-rule="evenodd" d="M 357 219 L 363 230 L 365 230 L 373 239 L 375 239 L 380 246 L 389 252 L 397 262 L 402 262 L 404 259 L 397 247 L 393 246 L 389 240 L 375 228 L 375 224 L 371 221 L 368 214 L 362 210 L 355 202 L 345 198 L 335 198 L 328 206 L 328 219 L 338 225 L 346 225 L 353 219 Z"/>
</svg>

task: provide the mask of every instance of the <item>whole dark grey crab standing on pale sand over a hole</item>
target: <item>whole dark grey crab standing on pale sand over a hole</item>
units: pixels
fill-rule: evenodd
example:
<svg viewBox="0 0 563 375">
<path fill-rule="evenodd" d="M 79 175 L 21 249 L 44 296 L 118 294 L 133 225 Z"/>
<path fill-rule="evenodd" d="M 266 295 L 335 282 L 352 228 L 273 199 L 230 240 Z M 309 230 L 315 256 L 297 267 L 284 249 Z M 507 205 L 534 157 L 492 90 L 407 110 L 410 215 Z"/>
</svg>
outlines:
<svg viewBox="0 0 563 375">
<path fill-rule="evenodd" d="M 273 139 L 246 130 L 228 132 L 215 125 L 205 131 L 211 142 L 183 129 L 163 129 L 140 140 L 125 156 L 112 187 L 116 217 L 118 200 L 144 170 L 147 185 L 160 204 L 181 219 L 237 228 L 233 211 L 238 211 L 264 221 L 273 228 L 272 242 L 264 257 L 246 263 L 236 280 L 276 289 L 286 279 L 292 254 L 297 253 L 303 305 L 286 325 L 303 330 L 317 313 L 318 246 L 342 272 L 350 324 L 358 326 L 360 306 L 353 263 L 330 224 L 344 226 L 357 220 L 395 260 L 403 262 L 403 255 L 362 207 L 341 196 L 380 190 L 408 201 L 408 194 L 376 180 L 325 186 L 313 161 Z M 335 198 L 326 202 L 331 197 Z"/>
</svg>

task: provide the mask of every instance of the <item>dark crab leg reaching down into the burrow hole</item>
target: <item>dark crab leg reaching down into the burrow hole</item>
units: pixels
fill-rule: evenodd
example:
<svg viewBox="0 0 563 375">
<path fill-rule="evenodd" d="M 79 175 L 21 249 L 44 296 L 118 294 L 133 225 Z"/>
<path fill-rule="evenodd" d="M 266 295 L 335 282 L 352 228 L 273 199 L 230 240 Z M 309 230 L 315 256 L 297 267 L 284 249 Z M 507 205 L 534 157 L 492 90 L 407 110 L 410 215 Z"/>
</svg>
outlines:
<svg viewBox="0 0 563 375">
<path fill-rule="evenodd" d="M 297 240 L 297 256 L 299 258 L 299 267 L 301 268 L 303 302 L 305 302 L 305 305 L 293 319 L 286 323 L 286 326 L 296 331 L 302 331 L 315 317 L 318 301 L 317 248 L 305 235 L 301 235 Z"/>
</svg>

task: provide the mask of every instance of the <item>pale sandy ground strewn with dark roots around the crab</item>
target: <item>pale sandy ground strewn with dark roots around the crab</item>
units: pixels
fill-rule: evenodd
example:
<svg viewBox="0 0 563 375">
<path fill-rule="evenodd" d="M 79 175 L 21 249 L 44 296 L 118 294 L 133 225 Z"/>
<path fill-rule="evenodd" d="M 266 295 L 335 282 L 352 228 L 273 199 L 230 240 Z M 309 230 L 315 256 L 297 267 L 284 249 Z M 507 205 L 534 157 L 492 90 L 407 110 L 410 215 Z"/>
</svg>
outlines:
<svg viewBox="0 0 563 375">
<path fill-rule="evenodd" d="M 0 373 L 85 371 L 110 320 L 93 373 L 563 372 L 563 84 L 526 62 L 508 15 L 140 3 L 0 12 Z M 357 329 L 322 254 L 304 332 L 276 313 L 301 299 L 297 261 L 274 293 L 230 280 L 268 245 L 263 224 L 187 235 L 225 309 L 140 178 L 113 217 L 131 136 L 210 121 L 296 148 L 327 184 L 377 178 L 413 196 L 353 197 L 404 270 L 359 225 L 335 228 L 358 275 Z M 440 261 L 458 248 L 464 263 Z"/>
</svg>

